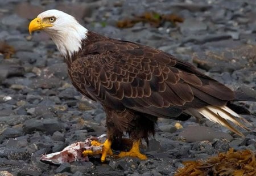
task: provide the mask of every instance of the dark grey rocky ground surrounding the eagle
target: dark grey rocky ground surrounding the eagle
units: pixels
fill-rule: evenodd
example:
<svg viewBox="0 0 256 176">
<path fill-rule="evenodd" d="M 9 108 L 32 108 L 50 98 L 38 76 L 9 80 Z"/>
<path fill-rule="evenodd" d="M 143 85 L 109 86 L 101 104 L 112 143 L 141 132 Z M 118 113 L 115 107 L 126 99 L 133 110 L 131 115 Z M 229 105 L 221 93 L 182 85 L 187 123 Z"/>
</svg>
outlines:
<svg viewBox="0 0 256 176">
<path fill-rule="evenodd" d="M 256 97 L 255 1 L 2 0 L 0 42 L 15 52 L 0 45 L 0 175 L 174 175 L 182 161 L 207 158 L 230 147 L 256 151 L 255 132 L 243 131 L 246 137 L 240 138 L 207 120 L 200 126 L 194 118 L 179 122 L 183 128 L 178 130 L 176 121 L 159 119 L 155 139 L 144 149 L 150 156 L 146 161 L 108 158 L 102 164 L 96 158 L 60 166 L 40 162 L 44 153 L 106 132 L 104 111 L 73 88 L 53 42 L 43 32 L 28 34 L 30 20 L 51 8 L 76 16 L 103 35 L 167 51 Z M 184 22 L 116 27 L 118 20 L 145 11 L 174 13 Z M 256 103 L 237 104 L 251 111 L 243 117 L 255 131 Z"/>
</svg>

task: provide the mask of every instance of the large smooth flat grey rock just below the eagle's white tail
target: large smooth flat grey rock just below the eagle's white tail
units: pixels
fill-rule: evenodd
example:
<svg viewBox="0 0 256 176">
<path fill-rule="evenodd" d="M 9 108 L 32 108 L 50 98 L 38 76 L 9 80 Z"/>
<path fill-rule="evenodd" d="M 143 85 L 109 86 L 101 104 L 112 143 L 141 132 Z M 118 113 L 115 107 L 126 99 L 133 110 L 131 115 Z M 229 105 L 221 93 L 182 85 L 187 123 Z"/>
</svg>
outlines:
<svg viewBox="0 0 256 176">
<path fill-rule="evenodd" d="M 204 131 L 204 132 L 202 132 Z M 214 138 L 225 138 L 227 140 L 232 140 L 232 136 L 221 131 L 214 131 L 213 128 L 205 126 L 188 126 L 185 127 L 183 131 L 180 132 L 179 136 L 185 138 L 187 142 L 212 141 Z"/>
</svg>

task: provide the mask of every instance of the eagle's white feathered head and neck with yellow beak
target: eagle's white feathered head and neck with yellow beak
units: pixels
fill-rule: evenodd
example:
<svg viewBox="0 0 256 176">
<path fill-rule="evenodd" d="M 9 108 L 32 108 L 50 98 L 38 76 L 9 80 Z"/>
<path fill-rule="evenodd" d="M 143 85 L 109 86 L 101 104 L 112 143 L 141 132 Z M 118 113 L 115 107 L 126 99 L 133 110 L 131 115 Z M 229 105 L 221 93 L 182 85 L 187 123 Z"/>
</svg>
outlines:
<svg viewBox="0 0 256 176">
<path fill-rule="evenodd" d="M 28 29 L 30 34 L 37 30 L 47 32 L 64 57 L 81 49 L 81 42 L 88 32 L 73 16 L 59 10 L 42 12 L 30 22 Z"/>
</svg>

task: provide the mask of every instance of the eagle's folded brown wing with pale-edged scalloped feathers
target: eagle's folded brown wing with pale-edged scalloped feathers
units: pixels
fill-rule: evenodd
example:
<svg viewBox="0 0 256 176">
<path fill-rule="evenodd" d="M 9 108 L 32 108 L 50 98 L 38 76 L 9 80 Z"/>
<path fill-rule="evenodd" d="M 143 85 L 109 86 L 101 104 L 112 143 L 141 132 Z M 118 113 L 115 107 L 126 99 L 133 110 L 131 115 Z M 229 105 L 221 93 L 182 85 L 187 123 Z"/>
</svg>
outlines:
<svg viewBox="0 0 256 176">
<path fill-rule="evenodd" d="M 177 117 L 185 109 L 221 106 L 234 98 L 233 91 L 193 65 L 149 46 L 105 40 L 83 53 L 70 68 L 72 82 L 110 108 Z"/>
</svg>

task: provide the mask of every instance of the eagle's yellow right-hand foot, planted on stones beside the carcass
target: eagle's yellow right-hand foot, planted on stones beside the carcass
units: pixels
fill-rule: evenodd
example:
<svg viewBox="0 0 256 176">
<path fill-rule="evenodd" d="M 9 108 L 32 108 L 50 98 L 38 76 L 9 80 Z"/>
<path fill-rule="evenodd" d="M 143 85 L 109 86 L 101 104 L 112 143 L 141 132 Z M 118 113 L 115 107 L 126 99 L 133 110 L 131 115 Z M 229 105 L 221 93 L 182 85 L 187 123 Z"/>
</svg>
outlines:
<svg viewBox="0 0 256 176">
<path fill-rule="evenodd" d="M 130 149 L 129 152 L 121 152 L 118 154 L 118 157 L 126 157 L 126 156 L 131 156 L 131 157 L 137 157 L 141 160 L 146 160 L 147 157 L 144 154 L 141 154 L 139 151 L 139 145 L 141 144 L 141 140 L 137 140 L 133 142 L 133 147 Z"/>
</svg>

